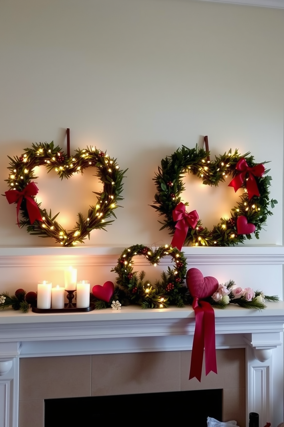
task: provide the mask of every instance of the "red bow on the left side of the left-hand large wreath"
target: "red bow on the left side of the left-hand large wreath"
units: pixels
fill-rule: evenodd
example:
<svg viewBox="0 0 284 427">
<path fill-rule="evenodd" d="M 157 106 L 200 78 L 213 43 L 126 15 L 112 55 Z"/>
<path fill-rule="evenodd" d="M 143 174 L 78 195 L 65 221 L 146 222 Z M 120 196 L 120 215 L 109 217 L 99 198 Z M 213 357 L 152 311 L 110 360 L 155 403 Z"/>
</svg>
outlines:
<svg viewBox="0 0 284 427">
<path fill-rule="evenodd" d="M 11 205 L 11 203 L 17 203 L 17 223 L 19 227 L 20 227 L 19 211 L 20 211 L 20 205 L 23 199 L 26 199 L 27 211 L 29 214 L 29 220 L 31 224 L 33 224 L 36 219 L 38 221 L 43 220 L 40 215 L 40 210 L 37 206 L 37 203 L 32 197 L 32 196 L 36 196 L 37 192 L 38 192 L 38 188 L 34 184 L 34 182 L 29 182 L 29 184 L 26 185 L 26 187 L 22 191 L 18 191 L 18 190 L 5 191 L 5 195 L 9 204 Z"/>
</svg>

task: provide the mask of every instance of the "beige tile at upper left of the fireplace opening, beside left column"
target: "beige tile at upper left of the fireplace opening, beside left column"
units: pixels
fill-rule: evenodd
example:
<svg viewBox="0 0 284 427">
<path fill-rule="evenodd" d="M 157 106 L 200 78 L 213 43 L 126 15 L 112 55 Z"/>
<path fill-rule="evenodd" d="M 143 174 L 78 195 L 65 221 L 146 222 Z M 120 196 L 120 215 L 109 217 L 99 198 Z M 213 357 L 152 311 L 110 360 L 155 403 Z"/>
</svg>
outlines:
<svg viewBox="0 0 284 427">
<path fill-rule="evenodd" d="M 20 400 L 90 396 L 91 356 L 20 359 Z"/>
</svg>

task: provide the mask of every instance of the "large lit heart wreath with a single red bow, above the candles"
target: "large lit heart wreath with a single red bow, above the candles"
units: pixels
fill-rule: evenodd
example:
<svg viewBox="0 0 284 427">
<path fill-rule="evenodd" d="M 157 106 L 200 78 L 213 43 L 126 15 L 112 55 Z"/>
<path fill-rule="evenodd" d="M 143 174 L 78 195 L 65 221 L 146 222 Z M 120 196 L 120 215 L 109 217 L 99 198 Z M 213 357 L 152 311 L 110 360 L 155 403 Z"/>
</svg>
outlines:
<svg viewBox="0 0 284 427">
<path fill-rule="evenodd" d="M 35 143 L 32 148 L 24 149 L 20 157 L 10 159 L 8 182 L 10 190 L 5 192 L 9 203 L 17 203 L 17 216 L 20 211 L 22 219 L 18 220 L 19 227 L 26 226 L 32 235 L 40 237 L 52 237 L 62 246 L 74 246 L 83 243 L 94 229 L 106 228 L 113 220 L 107 218 L 115 216 L 114 210 L 117 202 L 123 200 L 122 179 L 125 171 L 119 169 L 116 159 L 110 158 L 106 152 L 94 147 L 77 149 L 76 154 L 67 158 L 59 146 L 51 143 Z M 96 176 L 103 183 L 103 191 L 97 194 L 97 202 L 90 206 L 86 216 L 77 214 L 75 227 L 67 232 L 48 212 L 40 207 L 35 196 L 38 189 L 34 183 L 37 176 L 34 175 L 35 166 L 45 166 L 48 172 L 54 170 L 63 178 L 70 178 L 74 173 L 82 173 L 88 167 L 96 167 Z"/>
</svg>

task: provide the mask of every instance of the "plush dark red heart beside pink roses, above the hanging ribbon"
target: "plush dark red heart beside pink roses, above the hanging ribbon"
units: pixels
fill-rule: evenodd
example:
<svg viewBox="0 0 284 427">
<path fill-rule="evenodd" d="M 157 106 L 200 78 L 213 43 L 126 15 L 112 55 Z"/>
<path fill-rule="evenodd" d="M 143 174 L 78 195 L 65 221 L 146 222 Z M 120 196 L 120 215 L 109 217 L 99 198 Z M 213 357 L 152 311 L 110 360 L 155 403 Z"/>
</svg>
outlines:
<svg viewBox="0 0 284 427">
<path fill-rule="evenodd" d="M 197 268 L 190 268 L 186 273 L 186 285 L 193 298 L 198 299 L 212 296 L 219 286 L 215 277 L 203 277 L 203 274 Z"/>
</svg>

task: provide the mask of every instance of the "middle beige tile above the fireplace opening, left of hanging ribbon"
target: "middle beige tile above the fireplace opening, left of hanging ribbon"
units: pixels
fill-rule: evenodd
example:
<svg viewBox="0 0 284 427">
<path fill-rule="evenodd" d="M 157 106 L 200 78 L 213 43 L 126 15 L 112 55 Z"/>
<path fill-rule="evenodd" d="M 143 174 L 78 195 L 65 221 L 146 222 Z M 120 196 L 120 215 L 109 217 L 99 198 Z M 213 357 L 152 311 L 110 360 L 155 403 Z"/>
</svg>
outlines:
<svg viewBox="0 0 284 427">
<path fill-rule="evenodd" d="M 180 390 L 180 352 L 92 356 L 92 396 Z"/>
</svg>

